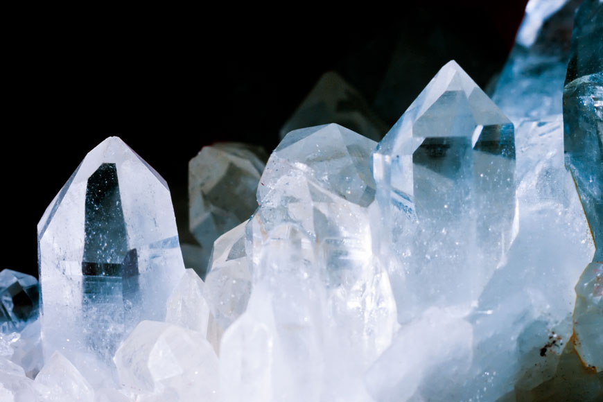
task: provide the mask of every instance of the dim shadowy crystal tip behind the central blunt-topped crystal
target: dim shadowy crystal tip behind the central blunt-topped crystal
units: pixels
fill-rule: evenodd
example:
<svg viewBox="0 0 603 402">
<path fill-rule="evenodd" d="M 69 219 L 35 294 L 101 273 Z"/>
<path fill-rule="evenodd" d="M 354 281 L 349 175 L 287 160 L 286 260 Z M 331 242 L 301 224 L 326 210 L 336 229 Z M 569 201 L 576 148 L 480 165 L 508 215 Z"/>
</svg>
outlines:
<svg viewBox="0 0 603 402">
<path fill-rule="evenodd" d="M 315 125 L 337 123 L 379 141 L 387 126 L 372 112 L 362 95 L 338 73 L 324 73 L 281 128 L 281 139 L 288 132 Z"/>
</svg>

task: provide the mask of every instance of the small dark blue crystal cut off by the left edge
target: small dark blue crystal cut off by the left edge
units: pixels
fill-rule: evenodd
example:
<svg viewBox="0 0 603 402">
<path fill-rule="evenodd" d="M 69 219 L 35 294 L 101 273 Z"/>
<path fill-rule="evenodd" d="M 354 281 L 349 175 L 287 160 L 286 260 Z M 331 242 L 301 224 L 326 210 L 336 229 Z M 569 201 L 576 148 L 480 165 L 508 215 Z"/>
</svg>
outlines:
<svg viewBox="0 0 603 402">
<path fill-rule="evenodd" d="M 19 331 L 40 311 L 40 288 L 28 274 L 0 272 L 0 332 Z"/>
</svg>

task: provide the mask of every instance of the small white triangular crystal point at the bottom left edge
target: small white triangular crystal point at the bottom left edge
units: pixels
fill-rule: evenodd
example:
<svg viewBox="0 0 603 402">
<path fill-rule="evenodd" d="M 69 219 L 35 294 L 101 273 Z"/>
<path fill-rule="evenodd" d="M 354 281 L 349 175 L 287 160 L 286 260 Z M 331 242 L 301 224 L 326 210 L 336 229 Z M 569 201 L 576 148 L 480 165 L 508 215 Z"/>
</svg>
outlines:
<svg viewBox="0 0 603 402">
<path fill-rule="evenodd" d="M 35 377 L 43 401 L 94 402 L 94 390 L 67 358 L 56 351 Z"/>
</svg>

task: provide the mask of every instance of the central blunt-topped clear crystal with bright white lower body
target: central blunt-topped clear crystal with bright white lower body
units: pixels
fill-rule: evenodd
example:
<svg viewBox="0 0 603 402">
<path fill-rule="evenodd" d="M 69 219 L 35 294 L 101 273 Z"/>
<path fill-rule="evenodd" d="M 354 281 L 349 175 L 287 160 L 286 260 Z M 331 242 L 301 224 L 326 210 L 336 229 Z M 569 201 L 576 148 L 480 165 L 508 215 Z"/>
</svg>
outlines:
<svg viewBox="0 0 603 402">
<path fill-rule="evenodd" d="M 273 350 L 274 360 L 262 359 L 272 365 L 274 400 L 369 399 L 362 373 L 396 329 L 387 273 L 371 252 L 375 145 L 335 124 L 296 130 L 262 175 L 261 205 L 247 224 L 252 296 L 239 320 L 250 314 L 245 325 L 261 328 L 261 350 Z M 240 350 L 228 333 L 222 347 Z M 237 353 L 236 364 L 251 358 L 222 353 Z"/>
</svg>

